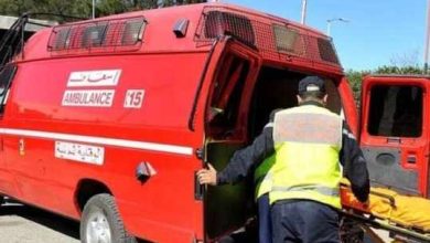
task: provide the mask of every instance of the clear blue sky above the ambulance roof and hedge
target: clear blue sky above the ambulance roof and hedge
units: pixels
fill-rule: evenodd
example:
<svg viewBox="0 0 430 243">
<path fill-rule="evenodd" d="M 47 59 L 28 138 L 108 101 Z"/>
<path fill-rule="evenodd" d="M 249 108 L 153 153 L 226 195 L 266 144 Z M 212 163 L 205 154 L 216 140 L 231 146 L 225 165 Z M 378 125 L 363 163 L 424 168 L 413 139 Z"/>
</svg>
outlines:
<svg viewBox="0 0 430 243">
<path fill-rule="evenodd" d="M 300 22 L 301 0 L 221 0 Z M 423 63 L 427 0 L 308 0 L 307 25 L 331 36 L 345 70 Z"/>
</svg>

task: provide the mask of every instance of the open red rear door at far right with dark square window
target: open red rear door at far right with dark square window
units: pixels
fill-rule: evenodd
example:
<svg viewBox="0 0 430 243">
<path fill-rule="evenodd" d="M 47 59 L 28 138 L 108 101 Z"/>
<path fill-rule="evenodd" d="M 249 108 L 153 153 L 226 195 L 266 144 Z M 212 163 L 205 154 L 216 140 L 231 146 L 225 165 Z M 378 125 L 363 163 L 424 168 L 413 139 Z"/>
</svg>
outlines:
<svg viewBox="0 0 430 243">
<path fill-rule="evenodd" d="M 361 146 L 373 187 L 429 198 L 429 77 L 365 77 Z"/>
</svg>

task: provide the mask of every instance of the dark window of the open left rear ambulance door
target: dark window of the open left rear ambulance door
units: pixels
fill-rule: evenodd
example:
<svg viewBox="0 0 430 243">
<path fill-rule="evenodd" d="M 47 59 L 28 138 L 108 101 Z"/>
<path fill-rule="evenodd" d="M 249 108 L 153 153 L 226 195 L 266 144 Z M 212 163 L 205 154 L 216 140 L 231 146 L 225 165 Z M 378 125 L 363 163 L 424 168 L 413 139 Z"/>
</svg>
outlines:
<svg viewBox="0 0 430 243">
<path fill-rule="evenodd" d="M 215 138 L 239 136 L 238 116 L 249 62 L 237 56 L 225 60 L 212 95 L 209 126 Z"/>
</svg>

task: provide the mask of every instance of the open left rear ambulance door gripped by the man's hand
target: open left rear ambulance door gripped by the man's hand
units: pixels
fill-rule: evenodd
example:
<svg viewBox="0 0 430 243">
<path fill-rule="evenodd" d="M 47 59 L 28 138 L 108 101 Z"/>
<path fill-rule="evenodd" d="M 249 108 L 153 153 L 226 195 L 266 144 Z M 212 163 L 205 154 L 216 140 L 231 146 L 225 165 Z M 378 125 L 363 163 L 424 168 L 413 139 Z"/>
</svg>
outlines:
<svg viewBox="0 0 430 243">
<path fill-rule="evenodd" d="M 205 114 L 205 161 L 217 171 L 233 154 L 248 145 L 248 110 L 261 59 L 251 47 L 237 41 L 225 43 L 214 75 Z M 251 184 L 207 187 L 204 198 L 207 242 L 239 228 L 251 215 Z"/>
</svg>

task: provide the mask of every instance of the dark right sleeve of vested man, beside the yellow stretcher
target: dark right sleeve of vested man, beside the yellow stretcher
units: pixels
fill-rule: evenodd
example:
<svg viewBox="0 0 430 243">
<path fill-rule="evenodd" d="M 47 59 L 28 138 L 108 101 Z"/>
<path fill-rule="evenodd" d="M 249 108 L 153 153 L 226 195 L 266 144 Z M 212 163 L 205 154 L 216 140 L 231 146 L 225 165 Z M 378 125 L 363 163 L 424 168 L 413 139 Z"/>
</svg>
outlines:
<svg viewBox="0 0 430 243">
<path fill-rule="evenodd" d="M 370 191 L 370 182 L 363 151 L 355 136 L 344 122 L 342 130 L 341 163 L 344 176 L 350 180 L 354 196 L 362 202 L 367 201 Z"/>
</svg>

